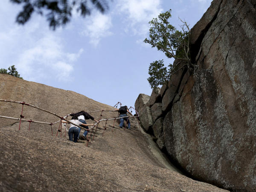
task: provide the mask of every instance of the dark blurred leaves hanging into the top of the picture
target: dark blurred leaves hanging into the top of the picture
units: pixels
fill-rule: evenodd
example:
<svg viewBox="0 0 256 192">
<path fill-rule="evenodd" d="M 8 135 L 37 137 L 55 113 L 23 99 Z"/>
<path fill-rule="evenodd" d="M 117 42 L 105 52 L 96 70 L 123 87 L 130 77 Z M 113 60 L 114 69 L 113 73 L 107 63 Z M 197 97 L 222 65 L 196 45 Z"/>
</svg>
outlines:
<svg viewBox="0 0 256 192">
<path fill-rule="evenodd" d="M 91 8 L 88 0 L 10 0 L 12 3 L 22 4 L 23 10 L 18 13 L 16 22 L 25 24 L 33 12 L 39 15 L 46 13 L 50 28 L 55 30 L 64 26 L 72 17 L 72 10 L 76 8 L 81 16 L 90 15 Z M 108 9 L 107 0 L 90 0 L 92 5 L 104 13 Z"/>
</svg>

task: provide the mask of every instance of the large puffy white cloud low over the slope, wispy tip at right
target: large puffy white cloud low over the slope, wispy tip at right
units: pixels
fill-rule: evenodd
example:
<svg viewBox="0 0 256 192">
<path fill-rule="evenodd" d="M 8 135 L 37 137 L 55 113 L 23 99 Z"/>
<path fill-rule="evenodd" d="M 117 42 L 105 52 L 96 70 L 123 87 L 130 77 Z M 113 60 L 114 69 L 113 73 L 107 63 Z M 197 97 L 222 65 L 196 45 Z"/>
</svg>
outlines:
<svg viewBox="0 0 256 192">
<path fill-rule="evenodd" d="M 17 67 L 24 79 L 45 79 L 47 75 L 58 81 L 68 81 L 73 72 L 73 62 L 83 49 L 77 53 L 64 51 L 62 39 L 50 32 L 35 42 L 32 48 L 25 49 L 17 59 Z"/>
</svg>

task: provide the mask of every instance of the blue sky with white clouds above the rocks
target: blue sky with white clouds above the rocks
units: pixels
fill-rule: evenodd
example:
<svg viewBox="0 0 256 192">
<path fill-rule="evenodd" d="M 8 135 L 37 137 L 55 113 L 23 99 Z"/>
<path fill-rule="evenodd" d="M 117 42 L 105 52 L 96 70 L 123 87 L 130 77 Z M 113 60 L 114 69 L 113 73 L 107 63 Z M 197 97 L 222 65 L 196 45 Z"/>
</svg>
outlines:
<svg viewBox="0 0 256 192">
<path fill-rule="evenodd" d="M 133 106 L 140 93 L 151 95 L 148 66 L 172 60 L 143 43 L 148 21 L 172 9 L 170 23 L 179 17 L 190 28 L 212 0 L 113 0 L 105 15 L 73 12 L 70 23 L 52 31 L 45 17 L 33 14 L 24 26 L 15 23 L 20 6 L 0 1 L 0 68 L 15 65 L 20 76 L 72 90 L 107 105 Z M 85 109 L 86 110 L 86 109 Z"/>
</svg>

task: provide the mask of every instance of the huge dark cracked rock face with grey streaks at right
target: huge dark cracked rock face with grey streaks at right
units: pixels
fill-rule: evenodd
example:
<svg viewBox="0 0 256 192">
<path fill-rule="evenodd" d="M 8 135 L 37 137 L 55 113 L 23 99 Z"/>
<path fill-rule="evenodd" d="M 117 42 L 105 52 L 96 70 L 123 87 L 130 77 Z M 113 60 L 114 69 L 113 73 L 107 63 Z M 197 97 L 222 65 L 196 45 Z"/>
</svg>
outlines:
<svg viewBox="0 0 256 192">
<path fill-rule="evenodd" d="M 213 0 L 191 33 L 198 67 L 161 89 L 159 143 L 198 180 L 256 191 L 256 2 Z"/>
</svg>

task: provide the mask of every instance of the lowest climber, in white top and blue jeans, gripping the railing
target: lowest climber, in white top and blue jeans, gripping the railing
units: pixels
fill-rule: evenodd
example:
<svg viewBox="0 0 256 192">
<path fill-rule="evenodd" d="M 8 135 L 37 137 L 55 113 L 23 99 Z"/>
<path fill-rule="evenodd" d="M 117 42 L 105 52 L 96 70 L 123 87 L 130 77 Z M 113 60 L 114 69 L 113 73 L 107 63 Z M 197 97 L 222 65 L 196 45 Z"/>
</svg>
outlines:
<svg viewBox="0 0 256 192">
<path fill-rule="evenodd" d="M 62 123 L 69 123 L 67 121 L 62 120 Z M 78 118 L 76 116 L 73 116 L 72 119 L 70 120 L 70 122 L 76 124 L 76 125 L 80 125 L 80 126 L 85 126 L 88 127 L 90 125 L 94 125 L 94 124 L 85 124 L 85 123 L 81 123 Z M 70 124 L 70 128 L 68 130 L 68 137 L 70 141 L 73 141 L 73 136 L 74 136 L 74 142 L 77 143 L 77 138 L 78 138 L 78 134 L 79 134 L 79 127 Z M 80 128 L 81 129 L 81 128 Z M 89 130 L 88 130 L 89 131 Z"/>
</svg>

